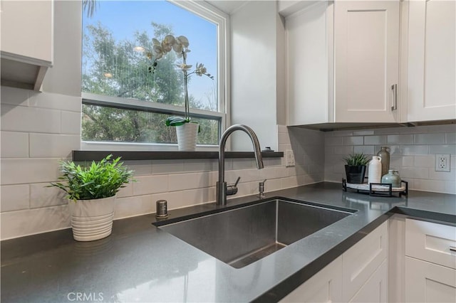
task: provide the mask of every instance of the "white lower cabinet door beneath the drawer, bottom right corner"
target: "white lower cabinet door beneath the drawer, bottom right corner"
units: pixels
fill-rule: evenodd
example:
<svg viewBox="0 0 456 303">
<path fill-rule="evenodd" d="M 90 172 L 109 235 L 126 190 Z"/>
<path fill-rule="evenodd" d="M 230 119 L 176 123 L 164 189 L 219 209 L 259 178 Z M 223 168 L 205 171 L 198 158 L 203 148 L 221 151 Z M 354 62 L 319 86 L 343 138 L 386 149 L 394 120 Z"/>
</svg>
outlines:
<svg viewBox="0 0 456 303">
<path fill-rule="evenodd" d="M 456 270 L 405 257 L 405 302 L 456 302 Z"/>
</svg>

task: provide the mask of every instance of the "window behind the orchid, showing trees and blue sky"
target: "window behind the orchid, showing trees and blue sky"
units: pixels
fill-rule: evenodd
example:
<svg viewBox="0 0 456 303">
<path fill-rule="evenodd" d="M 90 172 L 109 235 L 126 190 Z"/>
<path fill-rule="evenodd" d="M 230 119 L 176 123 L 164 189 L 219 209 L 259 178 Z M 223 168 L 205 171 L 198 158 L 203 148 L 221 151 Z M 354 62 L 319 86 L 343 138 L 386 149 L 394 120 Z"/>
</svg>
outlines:
<svg viewBox="0 0 456 303">
<path fill-rule="evenodd" d="M 198 2 L 199 3 L 199 2 Z M 191 1 L 98 1 L 83 14 L 82 140 L 84 144 L 175 144 L 170 115 L 184 115 L 184 81 L 174 52 L 150 73 L 152 38 L 190 41 L 187 64 L 204 63 L 214 76 L 192 75 L 190 117 L 198 144 L 217 145 L 225 123 L 225 18 Z M 146 52 L 144 51 L 146 50 Z"/>
</svg>

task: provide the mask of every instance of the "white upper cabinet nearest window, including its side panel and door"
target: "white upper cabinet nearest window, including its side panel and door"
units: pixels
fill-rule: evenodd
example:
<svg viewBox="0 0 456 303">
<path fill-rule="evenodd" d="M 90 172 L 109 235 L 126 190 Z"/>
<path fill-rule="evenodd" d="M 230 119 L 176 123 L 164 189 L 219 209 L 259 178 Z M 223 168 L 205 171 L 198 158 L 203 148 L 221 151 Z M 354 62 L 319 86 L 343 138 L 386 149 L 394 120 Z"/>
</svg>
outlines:
<svg viewBox="0 0 456 303">
<path fill-rule="evenodd" d="M 400 1 L 323 1 L 288 16 L 287 123 L 399 121 L 399 21 Z"/>
</svg>

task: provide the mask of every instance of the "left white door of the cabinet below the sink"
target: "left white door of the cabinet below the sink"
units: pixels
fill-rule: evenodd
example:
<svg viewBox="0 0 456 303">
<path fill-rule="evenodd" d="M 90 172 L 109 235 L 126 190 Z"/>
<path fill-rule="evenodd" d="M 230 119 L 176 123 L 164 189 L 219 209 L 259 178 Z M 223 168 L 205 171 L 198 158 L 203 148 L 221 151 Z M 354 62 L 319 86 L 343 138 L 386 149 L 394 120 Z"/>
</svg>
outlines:
<svg viewBox="0 0 456 303">
<path fill-rule="evenodd" d="M 290 292 L 280 302 L 341 302 L 342 256 Z"/>
</svg>

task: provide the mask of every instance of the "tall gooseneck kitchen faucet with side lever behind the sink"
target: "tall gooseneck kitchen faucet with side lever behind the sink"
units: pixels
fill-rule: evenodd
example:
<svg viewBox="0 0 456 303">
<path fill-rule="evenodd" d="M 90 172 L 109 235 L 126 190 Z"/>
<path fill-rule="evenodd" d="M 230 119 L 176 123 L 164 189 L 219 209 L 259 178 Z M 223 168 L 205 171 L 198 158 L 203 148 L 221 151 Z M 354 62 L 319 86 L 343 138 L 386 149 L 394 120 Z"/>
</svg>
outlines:
<svg viewBox="0 0 456 303">
<path fill-rule="evenodd" d="M 229 135 L 236 130 L 242 130 L 249 135 L 250 139 L 252 140 L 252 144 L 254 145 L 254 153 L 255 159 L 257 160 L 257 167 L 258 169 L 262 169 L 264 167 L 263 157 L 261 156 L 261 148 L 259 147 L 257 134 L 255 134 L 253 129 L 243 124 L 234 124 L 231 127 L 228 127 L 227 130 L 225 130 L 225 132 L 222 134 L 222 138 L 220 139 L 219 144 L 219 181 L 217 182 L 217 205 L 221 206 L 227 205 L 227 195 L 229 196 L 237 193 L 236 185 L 237 182 L 239 182 L 239 178 L 237 179 L 236 184 L 234 184 L 234 186 L 227 186 L 227 182 L 225 182 L 225 144 L 227 144 L 227 139 Z"/>
</svg>

